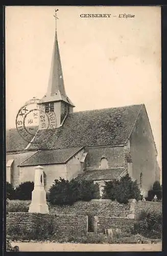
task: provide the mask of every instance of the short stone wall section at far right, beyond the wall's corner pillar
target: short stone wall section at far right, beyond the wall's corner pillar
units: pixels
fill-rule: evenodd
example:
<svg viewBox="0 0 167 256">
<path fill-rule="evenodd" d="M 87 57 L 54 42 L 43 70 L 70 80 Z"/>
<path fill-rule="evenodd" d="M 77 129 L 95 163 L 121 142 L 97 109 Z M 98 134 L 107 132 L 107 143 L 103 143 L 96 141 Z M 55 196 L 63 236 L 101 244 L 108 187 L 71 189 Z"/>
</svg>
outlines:
<svg viewBox="0 0 167 256">
<path fill-rule="evenodd" d="M 155 211 L 158 214 L 162 213 L 162 203 L 161 202 L 151 202 L 151 201 L 138 201 L 136 204 L 136 218 L 140 216 L 142 211 Z"/>
</svg>

